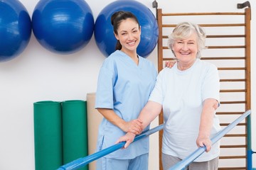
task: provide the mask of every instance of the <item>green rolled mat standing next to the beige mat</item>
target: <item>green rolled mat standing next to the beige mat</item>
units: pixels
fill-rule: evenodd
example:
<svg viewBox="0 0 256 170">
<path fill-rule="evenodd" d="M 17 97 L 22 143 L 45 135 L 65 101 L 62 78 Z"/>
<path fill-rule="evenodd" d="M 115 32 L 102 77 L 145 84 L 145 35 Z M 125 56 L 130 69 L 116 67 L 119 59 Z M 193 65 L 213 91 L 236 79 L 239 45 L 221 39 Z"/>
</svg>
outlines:
<svg viewBox="0 0 256 170">
<path fill-rule="evenodd" d="M 86 101 L 63 101 L 63 164 L 87 156 Z M 80 169 L 88 169 L 84 166 Z"/>
</svg>

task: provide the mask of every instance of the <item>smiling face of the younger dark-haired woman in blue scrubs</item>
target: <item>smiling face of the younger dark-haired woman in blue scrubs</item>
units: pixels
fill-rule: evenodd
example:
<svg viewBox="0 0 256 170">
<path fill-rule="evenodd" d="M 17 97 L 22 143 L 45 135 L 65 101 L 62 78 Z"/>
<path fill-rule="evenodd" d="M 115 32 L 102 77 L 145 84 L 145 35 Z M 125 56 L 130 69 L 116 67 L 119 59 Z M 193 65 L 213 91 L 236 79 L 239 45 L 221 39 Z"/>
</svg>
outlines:
<svg viewBox="0 0 256 170">
<path fill-rule="evenodd" d="M 141 29 L 136 21 L 127 18 L 120 23 L 117 34 L 114 35 L 120 41 L 123 52 L 136 51 L 140 42 Z"/>
</svg>

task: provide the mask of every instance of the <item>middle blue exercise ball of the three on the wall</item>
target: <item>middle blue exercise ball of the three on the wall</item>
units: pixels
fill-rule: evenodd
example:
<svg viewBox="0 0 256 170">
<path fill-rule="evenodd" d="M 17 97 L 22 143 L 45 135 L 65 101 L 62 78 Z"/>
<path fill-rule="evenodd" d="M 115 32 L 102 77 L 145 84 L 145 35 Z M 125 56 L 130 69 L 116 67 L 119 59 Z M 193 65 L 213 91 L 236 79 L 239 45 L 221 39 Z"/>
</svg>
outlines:
<svg viewBox="0 0 256 170">
<path fill-rule="evenodd" d="M 94 18 L 84 0 L 40 0 L 32 15 L 33 33 L 47 50 L 71 54 L 92 38 Z"/>
</svg>

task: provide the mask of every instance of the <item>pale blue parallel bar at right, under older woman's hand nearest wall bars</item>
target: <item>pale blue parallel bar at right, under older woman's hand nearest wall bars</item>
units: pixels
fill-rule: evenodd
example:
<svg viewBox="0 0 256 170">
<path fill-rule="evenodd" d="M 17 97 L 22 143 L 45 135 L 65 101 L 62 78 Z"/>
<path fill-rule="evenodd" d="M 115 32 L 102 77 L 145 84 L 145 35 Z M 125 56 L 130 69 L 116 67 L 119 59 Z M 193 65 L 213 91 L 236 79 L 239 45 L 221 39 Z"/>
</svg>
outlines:
<svg viewBox="0 0 256 170">
<path fill-rule="evenodd" d="M 238 125 L 238 123 L 240 123 L 240 121 L 242 121 L 244 118 L 246 118 L 247 115 L 250 115 L 250 113 L 251 113 L 250 110 L 246 111 L 239 118 L 237 118 L 235 121 L 233 121 L 233 123 L 230 123 L 226 128 L 224 128 L 223 130 L 218 132 L 218 134 L 215 135 L 215 137 L 213 137 L 211 139 L 212 144 L 215 144 L 215 142 L 220 140 L 221 137 L 223 137 L 230 130 L 232 130 L 236 125 Z M 198 158 L 205 151 L 206 151 L 206 147 L 205 146 L 204 147 L 199 147 L 198 149 L 196 149 L 195 152 L 193 152 L 192 154 L 188 155 L 188 157 L 186 157 L 186 159 L 183 159 L 181 162 L 178 162 L 174 166 L 171 166 L 171 168 L 169 170 L 181 170 L 181 169 L 186 168 L 186 166 L 191 164 L 191 162 L 193 162 L 196 158 Z"/>
</svg>

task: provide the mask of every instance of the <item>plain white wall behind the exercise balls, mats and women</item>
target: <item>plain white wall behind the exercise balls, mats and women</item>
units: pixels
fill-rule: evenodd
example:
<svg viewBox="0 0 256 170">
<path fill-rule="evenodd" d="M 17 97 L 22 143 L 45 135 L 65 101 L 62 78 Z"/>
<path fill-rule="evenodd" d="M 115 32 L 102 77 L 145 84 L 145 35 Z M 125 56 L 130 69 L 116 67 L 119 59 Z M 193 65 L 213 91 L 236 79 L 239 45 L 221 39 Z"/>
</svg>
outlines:
<svg viewBox="0 0 256 170">
<path fill-rule="evenodd" d="M 38 1 L 20 0 L 26 6 L 30 16 Z M 113 0 L 87 0 L 92 13 L 98 13 Z M 153 0 L 140 0 L 151 7 Z M 99 3 L 100 2 L 100 3 Z M 170 1 L 159 0 L 159 8 L 171 12 L 208 12 L 208 11 L 243 11 L 237 9 L 238 0 L 215 1 Z M 252 147 L 256 150 L 256 2 L 250 1 L 252 7 Z M 147 57 L 156 65 L 156 49 Z M 31 36 L 31 40 L 21 55 L 9 62 L 0 62 L 0 169 L 34 169 L 33 149 L 33 103 L 52 100 L 85 100 L 86 94 L 95 92 L 97 74 L 105 57 L 97 49 L 94 37 L 87 46 L 73 55 L 56 55 L 44 49 Z M 155 121 L 152 127 L 157 125 Z M 151 137 L 151 169 L 158 169 L 158 137 Z M 152 154 L 153 153 L 153 154 Z M 254 157 L 255 159 L 255 157 Z M 256 160 L 256 159 L 255 159 Z M 256 167 L 256 161 L 254 162 Z"/>
</svg>

